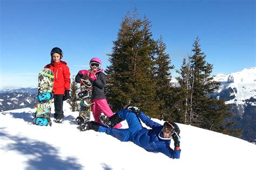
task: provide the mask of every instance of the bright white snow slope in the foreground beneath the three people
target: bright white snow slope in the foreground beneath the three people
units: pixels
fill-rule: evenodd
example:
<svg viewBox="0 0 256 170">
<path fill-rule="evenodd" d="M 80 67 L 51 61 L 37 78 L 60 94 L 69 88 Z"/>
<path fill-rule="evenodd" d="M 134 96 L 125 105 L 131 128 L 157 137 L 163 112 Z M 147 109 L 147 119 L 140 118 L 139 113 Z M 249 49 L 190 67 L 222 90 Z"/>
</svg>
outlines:
<svg viewBox="0 0 256 170">
<path fill-rule="evenodd" d="M 35 111 L 24 108 L 0 112 L 1 169 L 240 170 L 255 166 L 256 145 L 190 125 L 178 124 L 181 157 L 170 159 L 105 133 L 80 132 L 74 121 L 78 112 L 71 112 L 66 102 L 62 124 L 33 125 Z"/>
</svg>

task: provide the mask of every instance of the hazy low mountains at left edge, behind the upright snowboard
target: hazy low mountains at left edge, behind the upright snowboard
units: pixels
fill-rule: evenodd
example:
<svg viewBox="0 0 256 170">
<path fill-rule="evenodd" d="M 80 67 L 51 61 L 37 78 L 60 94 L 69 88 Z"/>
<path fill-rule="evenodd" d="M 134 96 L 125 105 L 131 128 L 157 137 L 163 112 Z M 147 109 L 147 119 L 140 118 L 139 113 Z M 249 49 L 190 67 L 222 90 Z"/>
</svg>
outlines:
<svg viewBox="0 0 256 170">
<path fill-rule="evenodd" d="M 0 111 L 33 108 L 37 88 L 0 90 Z"/>
</svg>

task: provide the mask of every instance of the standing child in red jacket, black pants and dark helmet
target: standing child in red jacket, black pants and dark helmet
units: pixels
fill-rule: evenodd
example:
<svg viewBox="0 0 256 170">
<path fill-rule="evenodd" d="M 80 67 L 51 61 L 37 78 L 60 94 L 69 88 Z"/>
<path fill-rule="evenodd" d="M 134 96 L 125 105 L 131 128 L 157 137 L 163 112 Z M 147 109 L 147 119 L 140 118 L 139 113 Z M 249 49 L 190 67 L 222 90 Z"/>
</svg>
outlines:
<svg viewBox="0 0 256 170">
<path fill-rule="evenodd" d="M 51 63 L 44 68 L 49 68 L 54 73 L 53 93 L 55 106 L 55 122 L 62 123 L 63 101 L 70 98 L 70 72 L 65 61 L 62 61 L 63 52 L 60 48 L 54 47 L 51 50 Z"/>
</svg>

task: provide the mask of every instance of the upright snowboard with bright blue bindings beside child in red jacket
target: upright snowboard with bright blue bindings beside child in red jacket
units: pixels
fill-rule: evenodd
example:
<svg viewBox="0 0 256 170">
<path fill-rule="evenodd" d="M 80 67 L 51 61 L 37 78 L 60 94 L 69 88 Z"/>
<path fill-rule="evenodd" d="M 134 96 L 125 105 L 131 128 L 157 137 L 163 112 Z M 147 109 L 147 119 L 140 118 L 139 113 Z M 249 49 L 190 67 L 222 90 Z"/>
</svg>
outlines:
<svg viewBox="0 0 256 170">
<path fill-rule="evenodd" d="M 38 74 L 38 94 L 35 96 L 36 114 L 33 124 L 51 126 L 51 102 L 53 98 L 54 74 L 52 70 L 44 68 Z"/>
</svg>

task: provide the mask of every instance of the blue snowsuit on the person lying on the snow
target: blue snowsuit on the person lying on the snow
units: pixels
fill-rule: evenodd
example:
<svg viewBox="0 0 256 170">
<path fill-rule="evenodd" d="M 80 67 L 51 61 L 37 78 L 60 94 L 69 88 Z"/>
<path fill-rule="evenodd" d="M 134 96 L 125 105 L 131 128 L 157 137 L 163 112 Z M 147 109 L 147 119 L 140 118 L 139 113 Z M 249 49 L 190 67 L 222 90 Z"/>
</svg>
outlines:
<svg viewBox="0 0 256 170">
<path fill-rule="evenodd" d="M 164 140 L 158 137 L 163 129 L 163 125 L 152 121 L 143 112 L 139 114 L 139 118 L 152 129 L 143 128 L 138 117 L 129 109 L 123 109 L 117 112 L 118 116 L 123 120 L 126 119 L 129 129 L 112 129 L 106 126 L 99 126 L 98 132 L 105 132 L 121 141 L 132 141 L 134 144 L 143 147 L 150 152 L 161 152 L 170 158 L 180 158 L 180 150 L 170 147 L 171 140 Z"/>
</svg>

